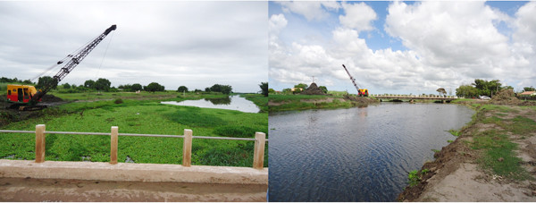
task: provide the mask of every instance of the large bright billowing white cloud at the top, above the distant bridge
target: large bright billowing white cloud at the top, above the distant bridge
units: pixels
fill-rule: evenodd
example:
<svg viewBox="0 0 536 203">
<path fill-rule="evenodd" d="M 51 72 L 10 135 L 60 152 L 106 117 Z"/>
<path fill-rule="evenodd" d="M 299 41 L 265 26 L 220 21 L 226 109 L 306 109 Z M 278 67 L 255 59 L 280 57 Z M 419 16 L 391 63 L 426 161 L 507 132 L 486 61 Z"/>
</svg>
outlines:
<svg viewBox="0 0 536 203">
<path fill-rule="evenodd" d="M 385 29 L 426 63 L 459 68 L 509 55 L 508 38 L 493 25 L 502 16 L 496 12 L 483 2 L 396 2 Z"/>
</svg>

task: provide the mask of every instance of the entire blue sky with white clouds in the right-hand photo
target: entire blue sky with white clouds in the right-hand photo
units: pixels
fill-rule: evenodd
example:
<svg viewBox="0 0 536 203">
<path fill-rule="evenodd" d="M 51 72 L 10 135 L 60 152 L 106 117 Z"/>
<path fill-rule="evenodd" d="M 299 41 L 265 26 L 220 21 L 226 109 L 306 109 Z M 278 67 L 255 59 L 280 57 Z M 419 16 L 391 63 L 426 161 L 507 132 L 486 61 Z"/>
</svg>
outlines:
<svg viewBox="0 0 536 203">
<path fill-rule="evenodd" d="M 437 93 L 536 86 L 536 2 L 270 2 L 270 86 Z"/>
</svg>

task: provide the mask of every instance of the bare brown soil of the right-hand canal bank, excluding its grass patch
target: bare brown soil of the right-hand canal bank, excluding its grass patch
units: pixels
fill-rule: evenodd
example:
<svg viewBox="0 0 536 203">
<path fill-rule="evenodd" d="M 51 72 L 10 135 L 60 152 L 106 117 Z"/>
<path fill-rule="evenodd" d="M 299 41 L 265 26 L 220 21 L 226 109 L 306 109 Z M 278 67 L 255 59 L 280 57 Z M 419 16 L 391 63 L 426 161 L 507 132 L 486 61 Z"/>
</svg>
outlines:
<svg viewBox="0 0 536 203">
<path fill-rule="evenodd" d="M 508 113 L 502 118 L 523 115 L 536 121 L 536 111 L 512 106 L 517 113 Z M 504 113 L 503 113 L 504 114 Z M 492 113 L 483 114 L 484 117 Z M 510 139 L 518 144 L 516 151 L 522 165 L 533 179 L 529 181 L 508 181 L 496 174 L 485 173 L 477 166 L 478 152 L 467 147 L 474 132 L 499 129 L 495 124 L 475 123 L 462 131 L 462 135 L 447 147 L 436 153 L 436 160 L 423 165 L 430 173 L 422 182 L 406 188 L 399 201 L 536 201 L 536 130 L 523 136 L 508 132 Z M 524 137 L 524 138 L 522 138 Z"/>
</svg>

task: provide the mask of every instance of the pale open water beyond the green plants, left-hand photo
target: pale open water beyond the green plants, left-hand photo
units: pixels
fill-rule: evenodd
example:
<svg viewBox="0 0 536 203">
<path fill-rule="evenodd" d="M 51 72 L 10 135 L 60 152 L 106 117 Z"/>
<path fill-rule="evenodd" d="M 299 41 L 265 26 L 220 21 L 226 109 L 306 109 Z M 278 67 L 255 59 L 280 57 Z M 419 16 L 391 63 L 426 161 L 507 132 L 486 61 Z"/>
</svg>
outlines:
<svg viewBox="0 0 536 203">
<path fill-rule="evenodd" d="M 165 101 L 160 102 L 167 105 L 176 105 L 176 106 L 197 106 L 201 108 L 220 108 L 220 109 L 229 109 L 237 110 L 246 113 L 258 113 L 260 111 L 259 107 L 255 103 L 247 100 L 244 97 L 238 95 L 222 98 L 204 98 L 199 100 L 185 100 L 185 101 Z"/>
</svg>

